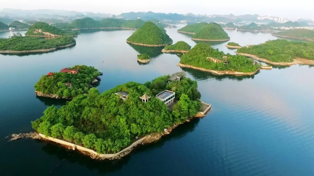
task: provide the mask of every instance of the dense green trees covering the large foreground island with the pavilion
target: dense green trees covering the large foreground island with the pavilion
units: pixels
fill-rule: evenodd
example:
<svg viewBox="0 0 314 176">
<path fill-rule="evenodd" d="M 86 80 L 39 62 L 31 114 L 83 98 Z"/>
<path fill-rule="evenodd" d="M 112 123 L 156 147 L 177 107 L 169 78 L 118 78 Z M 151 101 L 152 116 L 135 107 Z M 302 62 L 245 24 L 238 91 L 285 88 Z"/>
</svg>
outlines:
<svg viewBox="0 0 314 176">
<path fill-rule="evenodd" d="M 136 136 L 162 132 L 171 125 L 195 116 L 201 109 L 197 81 L 184 78 L 167 84 L 169 75 L 145 84 L 127 82 L 100 94 L 96 88 L 78 95 L 61 108 L 50 106 L 32 127 L 47 136 L 96 150 L 116 153 L 130 145 Z M 176 91 L 177 104 L 169 111 L 155 95 L 163 90 Z M 128 93 L 122 100 L 116 92 Z M 148 102 L 139 97 L 146 93 Z"/>
</svg>

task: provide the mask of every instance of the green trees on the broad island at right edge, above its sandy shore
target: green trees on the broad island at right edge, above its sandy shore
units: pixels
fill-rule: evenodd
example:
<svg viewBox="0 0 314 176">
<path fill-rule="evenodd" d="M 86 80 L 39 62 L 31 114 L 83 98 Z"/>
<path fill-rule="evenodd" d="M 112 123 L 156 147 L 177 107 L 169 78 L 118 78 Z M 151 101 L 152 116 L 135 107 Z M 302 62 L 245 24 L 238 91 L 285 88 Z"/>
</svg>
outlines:
<svg viewBox="0 0 314 176">
<path fill-rule="evenodd" d="M 297 57 L 314 60 L 314 43 L 277 39 L 252 47 L 242 47 L 237 52 L 254 54 L 272 62 L 292 62 Z"/>
</svg>

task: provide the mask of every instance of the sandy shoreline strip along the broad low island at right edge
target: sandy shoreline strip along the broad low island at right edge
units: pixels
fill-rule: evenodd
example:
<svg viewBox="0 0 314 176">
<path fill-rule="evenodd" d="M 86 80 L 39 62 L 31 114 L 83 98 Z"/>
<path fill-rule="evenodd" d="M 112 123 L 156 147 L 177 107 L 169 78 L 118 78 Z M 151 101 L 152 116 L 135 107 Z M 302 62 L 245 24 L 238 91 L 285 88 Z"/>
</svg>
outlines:
<svg viewBox="0 0 314 176">
<path fill-rule="evenodd" d="M 253 55 L 253 54 L 238 53 L 236 51 L 235 51 L 235 53 L 242 55 L 242 56 L 253 58 L 254 60 L 265 62 L 267 64 L 271 64 L 271 65 L 282 65 L 282 66 L 291 66 L 291 65 L 296 65 L 296 64 L 314 65 L 314 60 L 308 60 L 308 59 L 302 59 L 302 58 L 293 59 L 292 62 L 272 62 L 272 61 L 269 61 L 269 60 L 264 59 L 264 58 L 259 58 L 258 56 Z"/>
</svg>

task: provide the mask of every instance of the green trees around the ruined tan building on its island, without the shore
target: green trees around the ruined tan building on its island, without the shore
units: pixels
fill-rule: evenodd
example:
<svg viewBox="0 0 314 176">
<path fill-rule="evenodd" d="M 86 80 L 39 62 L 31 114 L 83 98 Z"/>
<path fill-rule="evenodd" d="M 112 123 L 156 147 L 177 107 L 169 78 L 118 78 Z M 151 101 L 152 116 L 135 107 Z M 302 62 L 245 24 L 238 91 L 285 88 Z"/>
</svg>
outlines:
<svg viewBox="0 0 314 176">
<path fill-rule="evenodd" d="M 222 60 L 223 56 L 228 57 L 229 64 L 207 60 L 207 57 Z M 180 63 L 218 71 L 254 72 L 260 67 L 260 65 L 254 65 L 251 59 L 239 55 L 224 54 L 224 52 L 213 49 L 209 44 L 205 43 L 195 45 L 187 54 L 181 57 Z"/>
</svg>

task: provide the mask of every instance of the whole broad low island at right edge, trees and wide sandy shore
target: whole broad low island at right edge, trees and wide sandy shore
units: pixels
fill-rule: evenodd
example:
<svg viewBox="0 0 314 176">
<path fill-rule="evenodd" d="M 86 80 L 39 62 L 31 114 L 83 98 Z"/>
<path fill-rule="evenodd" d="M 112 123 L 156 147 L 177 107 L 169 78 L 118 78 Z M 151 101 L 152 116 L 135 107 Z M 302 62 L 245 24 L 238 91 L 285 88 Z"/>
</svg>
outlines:
<svg viewBox="0 0 314 176">
<path fill-rule="evenodd" d="M 270 40 L 252 47 L 242 47 L 236 53 L 272 65 L 314 65 L 312 42 Z"/>
</svg>

